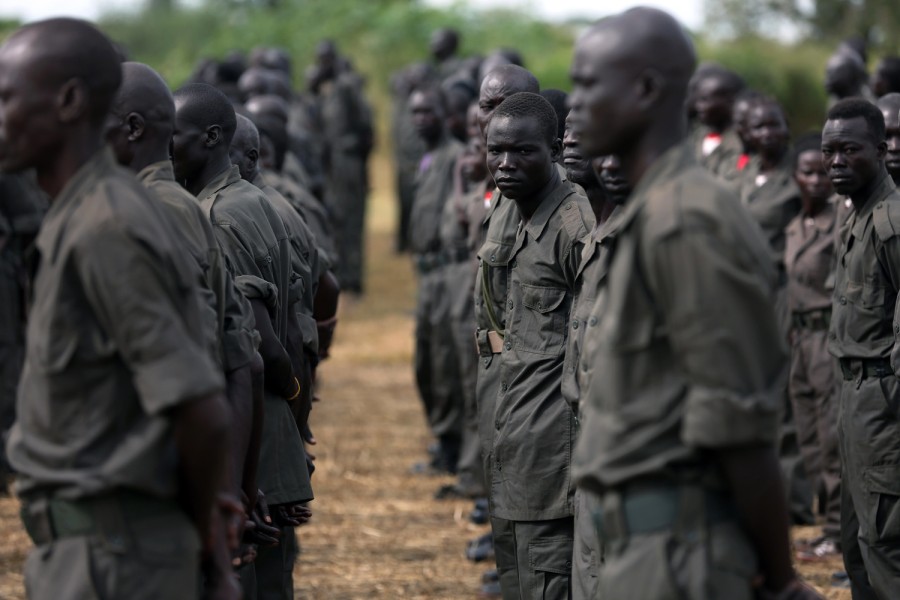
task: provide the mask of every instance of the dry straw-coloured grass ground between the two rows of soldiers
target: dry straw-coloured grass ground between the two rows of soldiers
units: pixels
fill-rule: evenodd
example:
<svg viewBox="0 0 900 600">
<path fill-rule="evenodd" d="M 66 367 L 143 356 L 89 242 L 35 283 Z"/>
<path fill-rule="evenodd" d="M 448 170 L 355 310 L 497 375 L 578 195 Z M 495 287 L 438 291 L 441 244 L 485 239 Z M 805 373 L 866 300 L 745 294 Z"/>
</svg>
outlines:
<svg viewBox="0 0 900 600">
<path fill-rule="evenodd" d="M 295 571 L 304 600 L 474 598 L 486 568 L 463 557 L 465 542 L 486 531 L 468 523 L 471 504 L 432 500 L 451 480 L 409 472 L 425 458 L 429 436 L 412 380 L 412 271 L 392 250 L 388 169 L 385 162 L 372 169 L 367 293 L 343 303 L 333 357 L 321 371 L 317 499 L 312 523 L 300 530 Z M 0 600 L 24 598 L 30 543 L 17 510 L 15 500 L 0 499 Z M 848 590 L 829 587 L 839 568 L 839 561 L 801 566 L 830 600 L 849 600 Z"/>
</svg>

